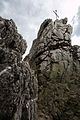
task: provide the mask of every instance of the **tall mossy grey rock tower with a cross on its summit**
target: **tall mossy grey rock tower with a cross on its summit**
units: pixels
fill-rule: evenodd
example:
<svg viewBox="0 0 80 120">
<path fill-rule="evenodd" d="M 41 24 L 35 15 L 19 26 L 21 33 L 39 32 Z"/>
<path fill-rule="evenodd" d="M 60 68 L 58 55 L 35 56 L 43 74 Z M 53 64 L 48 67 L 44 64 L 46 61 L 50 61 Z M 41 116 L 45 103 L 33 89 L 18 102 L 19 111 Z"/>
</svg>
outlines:
<svg viewBox="0 0 80 120">
<path fill-rule="evenodd" d="M 38 120 L 80 119 L 80 47 L 67 18 L 45 20 L 29 55 L 38 79 Z"/>
</svg>

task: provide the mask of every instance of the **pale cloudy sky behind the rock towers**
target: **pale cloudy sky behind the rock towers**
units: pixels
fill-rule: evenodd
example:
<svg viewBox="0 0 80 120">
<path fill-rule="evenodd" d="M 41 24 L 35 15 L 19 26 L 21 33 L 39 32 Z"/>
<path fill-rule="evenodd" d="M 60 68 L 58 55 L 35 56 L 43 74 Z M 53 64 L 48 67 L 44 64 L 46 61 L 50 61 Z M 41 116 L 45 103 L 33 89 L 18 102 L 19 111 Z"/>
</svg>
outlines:
<svg viewBox="0 0 80 120">
<path fill-rule="evenodd" d="M 19 33 L 27 41 L 27 52 L 46 18 L 68 17 L 73 26 L 72 44 L 80 45 L 80 0 L 0 0 L 0 16 L 13 19 Z"/>
</svg>

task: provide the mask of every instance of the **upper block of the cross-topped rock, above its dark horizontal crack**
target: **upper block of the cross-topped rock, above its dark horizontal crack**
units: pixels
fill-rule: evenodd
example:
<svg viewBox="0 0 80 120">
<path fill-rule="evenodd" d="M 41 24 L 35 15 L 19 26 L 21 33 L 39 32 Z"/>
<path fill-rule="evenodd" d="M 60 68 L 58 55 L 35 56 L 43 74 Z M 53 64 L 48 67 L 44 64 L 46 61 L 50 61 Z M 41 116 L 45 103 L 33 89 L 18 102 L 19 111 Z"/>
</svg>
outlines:
<svg viewBox="0 0 80 120">
<path fill-rule="evenodd" d="M 30 55 L 40 55 L 42 52 L 54 49 L 70 49 L 72 26 L 68 19 L 46 19 L 40 26 L 37 39 L 33 41 Z"/>
</svg>

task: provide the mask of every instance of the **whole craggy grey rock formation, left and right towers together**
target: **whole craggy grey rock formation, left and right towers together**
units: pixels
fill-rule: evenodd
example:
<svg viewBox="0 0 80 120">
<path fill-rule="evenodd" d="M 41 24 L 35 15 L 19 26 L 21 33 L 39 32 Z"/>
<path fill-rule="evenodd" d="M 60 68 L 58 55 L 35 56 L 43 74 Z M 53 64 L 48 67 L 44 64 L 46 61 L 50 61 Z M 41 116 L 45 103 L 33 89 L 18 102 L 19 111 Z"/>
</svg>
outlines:
<svg viewBox="0 0 80 120">
<path fill-rule="evenodd" d="M 46 19 L 22 60 L 25 40 L 0 17 L 0 120 L 80 119 L 80 47 L 67 21 Z"/>
</svg>

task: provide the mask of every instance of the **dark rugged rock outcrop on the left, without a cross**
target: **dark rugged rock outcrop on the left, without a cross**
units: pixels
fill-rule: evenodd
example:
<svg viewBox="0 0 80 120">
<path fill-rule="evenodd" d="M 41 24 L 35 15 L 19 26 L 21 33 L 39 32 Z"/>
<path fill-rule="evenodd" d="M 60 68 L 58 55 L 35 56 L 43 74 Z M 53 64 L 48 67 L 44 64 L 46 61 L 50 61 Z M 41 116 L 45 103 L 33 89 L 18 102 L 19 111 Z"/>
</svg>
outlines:
<svg viewBox="0 0 80 120">
<path fill-rule="evenodd" d="M 26 47 L 13 20 L 0 17 L 0 120 L 37 120 L 37 79 L 22 61 Z"/>
</svg>

